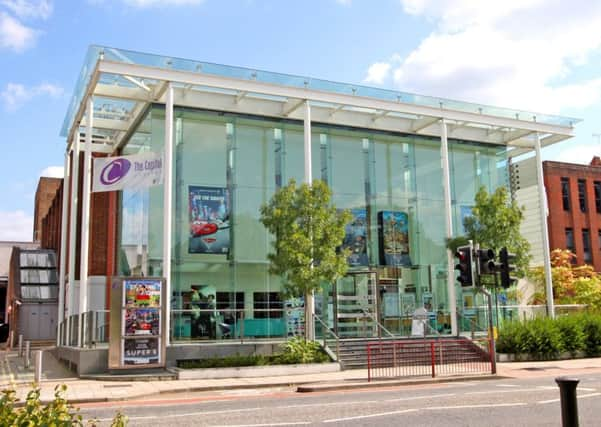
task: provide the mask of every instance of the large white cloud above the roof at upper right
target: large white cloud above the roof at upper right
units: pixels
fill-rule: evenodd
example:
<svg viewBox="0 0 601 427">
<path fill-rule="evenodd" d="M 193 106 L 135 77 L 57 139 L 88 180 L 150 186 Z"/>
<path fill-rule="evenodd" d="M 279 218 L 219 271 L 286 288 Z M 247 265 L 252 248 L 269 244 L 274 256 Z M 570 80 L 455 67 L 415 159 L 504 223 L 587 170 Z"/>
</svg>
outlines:
<svg viewBox="0 0 601 427">
<path fill-rule="evenodd" d="M 601 2 L 401 3 L 435 29 L 397 64 L 372 64 L 366 81 L 384 76 L 383 82 L 404 91 L 548 113 L 601 100 L 601 73 L 588 80 L 573 77 L 601 51 Z"/>
</svg>

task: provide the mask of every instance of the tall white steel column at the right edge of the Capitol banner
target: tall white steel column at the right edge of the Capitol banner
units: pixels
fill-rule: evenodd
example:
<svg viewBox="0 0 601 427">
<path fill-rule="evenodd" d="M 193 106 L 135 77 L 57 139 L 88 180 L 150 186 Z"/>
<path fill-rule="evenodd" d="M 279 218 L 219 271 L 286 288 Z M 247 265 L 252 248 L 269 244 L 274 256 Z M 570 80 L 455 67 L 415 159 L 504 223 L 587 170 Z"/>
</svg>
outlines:
<svg viewBox="0 0 601 427">
<path fill-rule="evenodd" d="M 163 277 L 165 278 L 165 344 L 171 341 L 171 211 L 173 208 L 173 85 L 165 100 L 165 159 L 163 170 Z"/>
</svg>

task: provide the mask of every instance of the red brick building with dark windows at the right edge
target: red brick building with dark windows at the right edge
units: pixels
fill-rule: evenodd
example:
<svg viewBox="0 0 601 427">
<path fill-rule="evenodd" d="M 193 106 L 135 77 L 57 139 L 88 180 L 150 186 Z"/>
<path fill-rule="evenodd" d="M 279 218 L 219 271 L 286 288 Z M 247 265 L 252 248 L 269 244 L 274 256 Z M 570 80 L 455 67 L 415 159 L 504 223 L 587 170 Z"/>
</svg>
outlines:
<svg viewBox="0 0 601 427">
<path fill-rule="evenodd" d="M 601 271 L 601 159 L 589 165 L 543 162 L 549 246 L 569 249 L 575 263 Z"/>
</svg>

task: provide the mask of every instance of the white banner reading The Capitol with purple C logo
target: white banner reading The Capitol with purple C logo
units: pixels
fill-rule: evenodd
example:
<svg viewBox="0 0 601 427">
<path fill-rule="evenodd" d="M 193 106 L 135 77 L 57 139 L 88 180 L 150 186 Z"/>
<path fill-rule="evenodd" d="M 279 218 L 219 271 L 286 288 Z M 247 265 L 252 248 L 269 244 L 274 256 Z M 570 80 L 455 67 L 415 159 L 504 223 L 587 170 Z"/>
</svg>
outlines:
<svg viewBox="0 0 601 427">
<path fill-rule="evenodd" d="M 162 183 L 162 154 L 147 152 L 94 159 L 92 192 L 139 190 Z"/>
</svg>

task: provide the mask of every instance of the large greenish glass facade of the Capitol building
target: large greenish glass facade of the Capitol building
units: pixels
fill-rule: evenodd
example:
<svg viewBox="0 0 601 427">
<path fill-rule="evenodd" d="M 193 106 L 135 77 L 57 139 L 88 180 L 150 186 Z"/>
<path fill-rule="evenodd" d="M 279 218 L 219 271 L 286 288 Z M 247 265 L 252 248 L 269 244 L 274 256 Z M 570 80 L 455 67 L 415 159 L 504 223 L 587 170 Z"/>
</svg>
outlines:
<svg viewBox="0 0 601 427">
<path fill-rule="evenodd" d="M 122 153 L 163 150 L 164 119 L 163 107 L 153 107 Z M 394 281 L 389 311 L 410 295 L 433 312 L 448 310 L 440 141 L 314 123 L 312 156 L 313 178 L 326 181 L 336 207 L 355 216 L 351 271 Z M 278 187 L 303 181 L 302 122 L 176 108 L 173 159 L 173 339 L 263 338 L 302 329 L 302 318 L 289 316 L 298 301 L 284 301 L 279 278 L 268 273 L 272 236 L 259 221 L 260 206 Z M 449 163 L 454 233 L 461 234 L 478 188 L 507 185 L 505 147 L 450 140 Z M 118 274 L 160 276 L 162 186 L 123 191 L 119 218 Z M 390 218 L 402 223 L 394 240 L 403 247 L 400 257 L 386 241 Z M 334 291 L 329 284 L 324 289 L 316 306 L 330 321 Z M 383 305 L 387 289 L 375 292 Z M 457 298 L 461 306 L 459 288 Z"/>
</svg>

